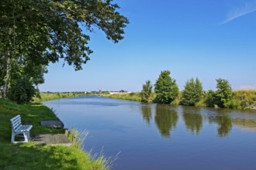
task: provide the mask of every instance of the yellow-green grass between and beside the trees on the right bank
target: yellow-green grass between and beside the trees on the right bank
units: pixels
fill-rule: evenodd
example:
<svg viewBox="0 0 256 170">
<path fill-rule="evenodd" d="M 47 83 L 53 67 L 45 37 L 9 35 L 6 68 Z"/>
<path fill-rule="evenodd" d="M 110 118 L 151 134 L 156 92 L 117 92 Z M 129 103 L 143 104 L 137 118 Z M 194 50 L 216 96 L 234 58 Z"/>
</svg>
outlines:
<svg viewBox="0 0 256 170">
<path fill-rule="evenodd" d="M 239 110 L 256 110 L 256 90 L 234 90 L 234 102 L 237 104 Z M 102 94 L 102 97 L 133 100 L 141 102 L 140 92 L 137 93 L 116 93 L 116 94 Z M 151 93 L 150 103 L 154 103 L 155 93 Z M 206 93 L 202 96 L 202 99 L 196 104 L 198 107 L 207 107 L 206 104 Z M 181 104 L 182 92 L 179 93 L 178 97 L 172 105 Z"/>
</svg>

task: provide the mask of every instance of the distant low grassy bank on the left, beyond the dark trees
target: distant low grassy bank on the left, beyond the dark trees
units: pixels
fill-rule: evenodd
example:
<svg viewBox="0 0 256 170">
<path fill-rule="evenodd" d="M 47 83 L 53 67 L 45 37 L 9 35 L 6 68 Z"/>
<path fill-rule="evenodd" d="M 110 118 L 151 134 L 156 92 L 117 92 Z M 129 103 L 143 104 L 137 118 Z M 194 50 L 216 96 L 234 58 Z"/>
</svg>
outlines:
<svg viewBox="0 0 256 170">
<path fill-rule="evenodd" d="M 33 97 L 34 103 L 40 103 L 42 101 L 48 100 L 56 100 L 61 98 L 69 98 L 69 97 L 81 97 L 85 96 L 85 93 L 78 92 L 67 92 L 67 93 L 40 93 L 39 97 Z"/>
</svg>

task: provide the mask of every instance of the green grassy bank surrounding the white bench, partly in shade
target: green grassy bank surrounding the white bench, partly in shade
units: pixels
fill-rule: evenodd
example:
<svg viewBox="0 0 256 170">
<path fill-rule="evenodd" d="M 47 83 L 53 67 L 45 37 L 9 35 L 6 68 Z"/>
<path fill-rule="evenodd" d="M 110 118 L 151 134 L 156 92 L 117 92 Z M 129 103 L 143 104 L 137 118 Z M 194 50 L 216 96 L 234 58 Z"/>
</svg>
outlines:
<svg viewBox="0 0 256 170">
<path fill-rule="evenodd" d="M 109 169 L 105 158 L 93 158 L 78 145 L 71 147 L 37 145 L 34 142 L 12 145 L 9 119 L 20 114 L 23 124 L 33 124 L 33 134 L 64 133 L 61 129 L 43 128 L 40 121 L 58 120 L 42 104 L 19 105 L 0 99 L 0 169 Z"/>
</svg>

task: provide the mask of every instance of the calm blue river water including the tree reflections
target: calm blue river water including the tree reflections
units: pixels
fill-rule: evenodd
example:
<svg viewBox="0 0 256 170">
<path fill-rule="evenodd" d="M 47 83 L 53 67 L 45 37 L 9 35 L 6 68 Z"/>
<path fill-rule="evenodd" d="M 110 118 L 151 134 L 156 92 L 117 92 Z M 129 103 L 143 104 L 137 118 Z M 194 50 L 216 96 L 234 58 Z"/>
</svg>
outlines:
<svg viewBox="0 0 256 170">
<path fill-rule="evenodd" d="M 256 169 L 256 113 L 104 97 L 44 102 L 112 169 Z"/>
</svg>

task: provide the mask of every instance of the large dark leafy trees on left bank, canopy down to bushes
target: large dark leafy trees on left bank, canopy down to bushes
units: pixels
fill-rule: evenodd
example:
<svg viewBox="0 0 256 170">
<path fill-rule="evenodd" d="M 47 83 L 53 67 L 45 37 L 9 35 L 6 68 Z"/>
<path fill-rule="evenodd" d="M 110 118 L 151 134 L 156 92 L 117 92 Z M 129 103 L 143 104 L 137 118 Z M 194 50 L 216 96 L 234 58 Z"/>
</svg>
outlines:
<svg viewBox="0 0 256 170">
<path fill-rule="evenodd" d="M 47 65 L 60 59 L 81 70 L 92 53 L 88 32 L 94 29 L 113 42 L 123 39 L 129 21 L 118 8 L 112 0 L 1 0 L 1 96 L 28 103 Z"/>
</svg>

